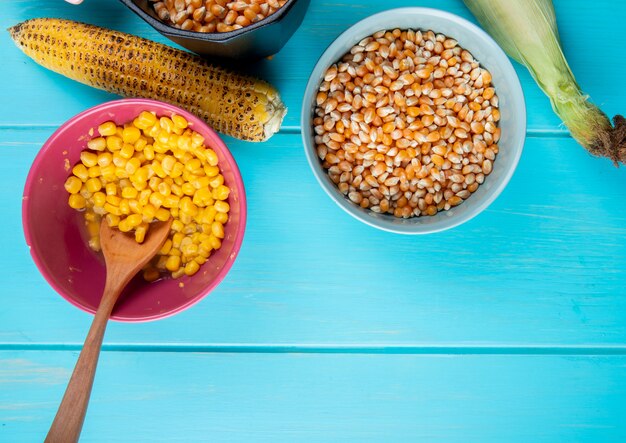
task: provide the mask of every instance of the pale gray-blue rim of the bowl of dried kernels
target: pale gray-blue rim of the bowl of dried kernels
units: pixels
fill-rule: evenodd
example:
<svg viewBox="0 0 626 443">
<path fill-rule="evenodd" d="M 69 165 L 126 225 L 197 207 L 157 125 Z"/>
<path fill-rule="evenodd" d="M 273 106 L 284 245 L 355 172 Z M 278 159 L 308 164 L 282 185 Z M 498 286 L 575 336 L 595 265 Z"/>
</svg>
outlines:
<svg viewBox="0 0 626 443">
<path fill-rule="evenodd" d="M 357 207 L 353 202 L 349 201 L 343 194 L 339 193 L 339 190 L 335 185 L 332 185 L 325 179 L 327 173 L 323 170 L 317 153 L 314 152 L 313 143 L 310 140 L 310 129 L 308 126 L 311 124 L 311 109 L 310 105 L 313 102 L 312 95 L 307 96 L 307 93 L 310 91 L 317 91 L 319 78 L 315 75 L 318 70 L 325 69 L 327 66 L 322 66 L 322 60 L 335 51 L 335 48 L 341 44 L 343 44 L 346 40 L 355 40 L 355 44 L 360 41 L 363 37 L 357 40 L 359 36 L 352 36 L 352 31 L 354 28 L 361 27 L 364 25 L 369 25 L 371 23 L 377 23 L 381 19 L 388 19 L 390 17 L 396 17 L 399 15 L 410 13 L 412 15 L 428 15 L 436 18 L 441 18 L 444 20 L 448 20 L 456 23 L 461 27 L 465 27 L 471 33 L 475 34 L 480 39 L 480 44 L 485 46 L 487 50 L 494 53 L 498 57 L 498 63 L 501 63 L 501 68 L 505 71 L 505 75 L 510 76 L 511 78 L 511 87 L 513 91 L 511 92 L 511 96 L 515 96 L 518 100 L 518 106 L 515 108 L 516 119 L 522 121 L 520 126 L 522 127 L 521 134 L 518 140 L 513 140 L 512 145 L 515 149 L 515 155 L 512 157 L 511 164 L 500 180 L 497 183 L 494 183 L 492 188 L 492 192 L 485 197 L 473 211 L 468 211 L 460 216 L 452 216 L 448 218 L 447 223 L 437 224 L 437 225 L 422 225 L 422 224 L 413 224 L 413 225 L 394 225 L 390 223 L 393 220 L 392 215 L 388 214 L 375 214 L 381 215 L 383 217 L 390 217 L 389 219 L 384 218 L 374 218 L 374 213 L 369 211 L 361 211 L 360 207 Z M 385 27 L 381 26 L 381 29 Z M 391 26 L 387 26 L 389 29 Z M 414 29 L 421 29 L 419 26 Z M 434 32 L 437 32 L 433 29 Z M 334 63 L 334 62 L 333 62 Z M 325 65 L 325 64 L 324 64 Z M 447 11 L 443 11 L 435 8 L 424 8 L 424 7 L 403 7 L 403 8 L 393 8 L 387 9 L 376 14 L 370 15 L 358 22 L 354 23 L 348 29 L 343 31 L 339 36 L 337 36 L 328 47 L 322 52 L 320 57 L 318 58 L 315 66 L 311 71 L 311 75 L 309 76 L 309 80 L 305 87 L 305 93 L 302 100 L 302 108 L 300 114 L 300 127 L 301 135 L 302 135 L 302 144 L 304 147 L 305 156 L 307 158 L 307 162 L 311 170 L 313 171 L 313 175 L 315 179 L 320 184 L 324 192 L 333 200 L 342 210 L 350 214 L 352 217 L 357 220 L 372 226 L 374 228 L 380 229 L 382 231 L 393 232 L 396 234 L 405 234 L 405 235 L 425 235 L 425 234 L 433 234 L 436 232 L 445 231 L 456 226 L 459 226 L 472 218 L 476 217 L 478 214 L 483 212 L 491 203 L 493 203 L 496 198 L 502 193 L 506 185 L 511 180 L 515 170 L 517 169 L 517 165 L 519 163 L 520 157 L 522 155 L 522 151 L 524 149 L 524 144 L 526 141 L 526 123 L 527 123 L 527 115 L 526 115 L 526 102 L 524 99 L 524 92 L 522 90 L 519 77 L 513 68 L 513 64 L 509 60 L 509 57 L 506 55 L 504 50 L 496 43 L 496 41 L 491 38 L 489 34 L 487 34 L 483 29 L 469 20 L 460 17 L 456 14 L 452 14 Z"/>
</svg>

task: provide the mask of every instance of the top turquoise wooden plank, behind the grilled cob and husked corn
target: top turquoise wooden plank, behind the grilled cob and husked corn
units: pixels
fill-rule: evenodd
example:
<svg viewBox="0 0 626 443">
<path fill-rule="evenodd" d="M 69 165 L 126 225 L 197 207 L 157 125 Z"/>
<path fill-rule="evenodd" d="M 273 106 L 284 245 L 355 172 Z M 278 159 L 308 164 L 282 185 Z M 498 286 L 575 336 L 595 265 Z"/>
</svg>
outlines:
<svg viewBox="0 0 626 443">
<path fill-rule="evenodd" d="M 623 93 L 616 86 L 615 73 L 626 67 L 621 42 L 626 39 L 622 26 L 624 7 L 610 1 L 556 1 L 557 16 L 566 55 L 581 86 L 611 115 L 625 112 Z M 304 86 L 317 58 L 344 29 L 356 21 L 391 7 L 427 6 L 440 8 L 472 19 L 459 0 L 383 0 L 329 2 L 314 0 L 301 28 L 272 60 L 250 66 L 257 75 L 271 81 L 282 93 L 289 107 L 285 126 L 299 125 Z M 126 11 L 120 2 L 90 0 L 71 6 L 59 0 L 4 2 L 0 29 L 33 17 L 63 17 L 134 33 L 163 43 L 170 43 L 141 19 Z M 473 20 L 473 19 L 472 19 Z M 416 27 L 419 23 L 416 23 Z M 591 36 L 606 35 L 602 44 Z M 115 98 L 37 67 L 18 51 L 8 33 L 0 33 L 3 67 L 0 84 L 3 103 L 13 104 L 10 113 L 0 115 L 0 125 L 59 125 L 78 112 Z M 548 100 L 534 84 L 527 71 L 516 65 L 528 106 L 528 127 L 535 131 L 561 131 L 559 120 Z M 62 106 L 50 107 L 51 103 Z"/>
</svg>

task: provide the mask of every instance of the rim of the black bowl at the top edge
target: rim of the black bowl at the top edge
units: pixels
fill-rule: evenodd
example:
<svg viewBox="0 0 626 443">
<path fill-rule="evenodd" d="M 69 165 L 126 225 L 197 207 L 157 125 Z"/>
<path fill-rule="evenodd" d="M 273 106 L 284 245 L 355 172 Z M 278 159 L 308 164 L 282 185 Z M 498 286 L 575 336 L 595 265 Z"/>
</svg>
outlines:
<svg viewBox="0 0 626 443">
<path fill-rule="evenodd" d="M 154 29 L 156 29 L 161 34 L 167 37 L 184 37 L 184 38 L 200 40 L 200 41 L 227 43 L 229 41 L 235 40 L 236 38 L 248 32 L 252 32 L 256 29 L 264 28 L 280 20 L 285 14 L 289 12 L 289 10 L 293 7 L 293 5 L 298 0 L 287 0 L 287 3 L 281 6 L 273 14 L 265 17 L 263 20 L 259 20 L 258 22 L 252 23 L 251 25 L 248 25 L 248 26 L 244 26 L 241 29 L 235 29 L 234 31 L 228 31 L 228 32 L 197 32 L 197 31 L 186 31 L 184 29 L 178 29 L 157 18 L 152 17 L 150 14 L 146 13 L 140 6 L 138 6 L 134 0 L 120 0 L 120 1 L 124 3 L 124 5 L 126 5 L 126 7 L 132 10 L 135 14 L 137 14 L 139 17 L 145 20 L 150 26 L 152 26 Z"/>
</svg>

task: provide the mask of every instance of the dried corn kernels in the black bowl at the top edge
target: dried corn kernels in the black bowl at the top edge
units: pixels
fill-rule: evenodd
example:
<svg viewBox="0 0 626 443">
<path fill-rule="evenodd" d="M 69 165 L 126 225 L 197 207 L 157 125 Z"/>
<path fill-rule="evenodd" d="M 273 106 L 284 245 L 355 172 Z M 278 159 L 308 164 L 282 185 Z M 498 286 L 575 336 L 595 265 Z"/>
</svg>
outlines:
<svg viewBox="0 0 626 443">
<path fill-rule="evenodd" d="M 230 32 L 250 26 L 287 0 L 150 0 L 161 21 L 187 31 Z"/>
</svg>

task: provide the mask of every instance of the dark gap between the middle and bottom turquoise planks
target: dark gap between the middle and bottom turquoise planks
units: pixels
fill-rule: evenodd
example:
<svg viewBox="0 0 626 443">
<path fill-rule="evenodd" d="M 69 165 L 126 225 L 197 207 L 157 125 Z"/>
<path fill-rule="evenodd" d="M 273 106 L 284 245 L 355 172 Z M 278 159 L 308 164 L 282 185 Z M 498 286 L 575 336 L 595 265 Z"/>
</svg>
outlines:
<svg viewBox="0 0 626 443">
<path fill-rule="evenodd" d="M 80 351 L 82 344 L 0 343 L 0 351 Z M 230 354 L 396 354 L 396 355 L 626 355 L 626 345 L 298 345 L 298 344 L 121 344 L 104 352 L 194 352 Z"/>
</svg>

